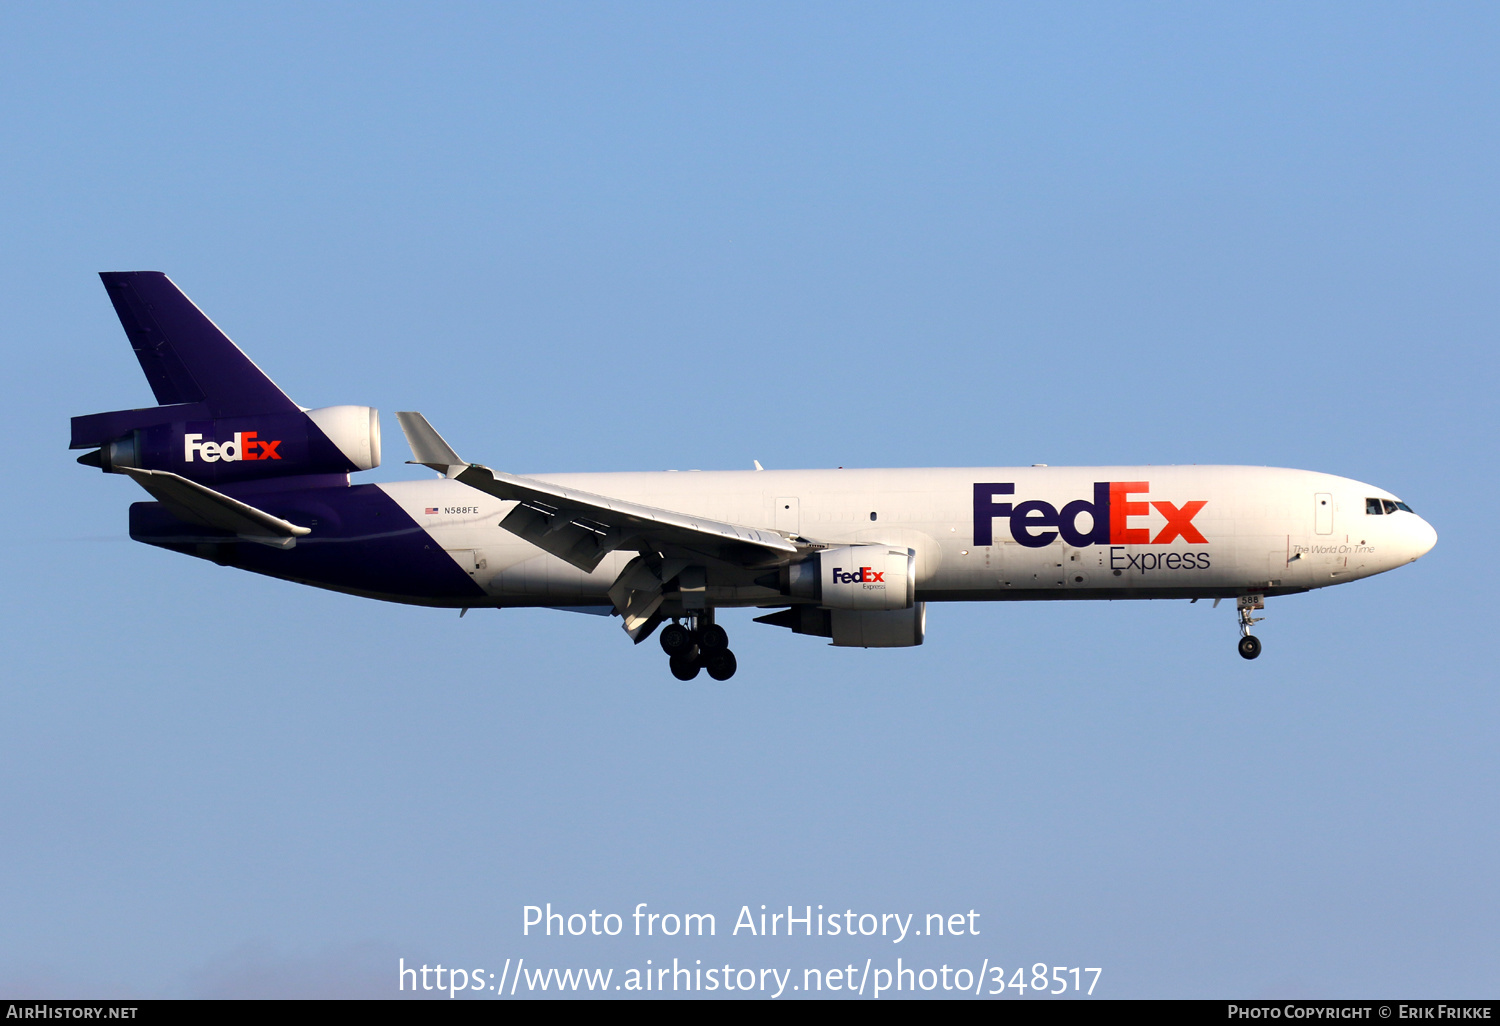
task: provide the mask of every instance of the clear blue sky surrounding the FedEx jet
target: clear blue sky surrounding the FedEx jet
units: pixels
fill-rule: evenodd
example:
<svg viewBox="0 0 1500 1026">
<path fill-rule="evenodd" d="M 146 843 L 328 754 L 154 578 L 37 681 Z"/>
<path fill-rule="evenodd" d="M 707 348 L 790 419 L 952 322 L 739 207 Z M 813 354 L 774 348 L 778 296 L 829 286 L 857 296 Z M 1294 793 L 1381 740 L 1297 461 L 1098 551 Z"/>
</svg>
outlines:
<svg viewBox="0 0 1500 1026">
<path fill-rule="evenodd" d="M 1500 15 L 1484 4 L 9 4 L 0 993 L 369 994 L 904 954 L 1104 996 L 1492 996 Z M 99 270 L 513 471 L 1264 464 L 1419 564 L 934 606 L 912 651 L 406 609 L 130 543 Z M 524 904 L 980 938 L 520 936 Z M 910 942 L 909 942 L 910 944 Z M 915 945 L 914 945 L 915 946 Z M 1010 970 L 1008 969 L 1008 970 Z"/>
</svg>

